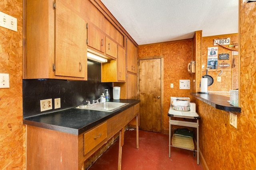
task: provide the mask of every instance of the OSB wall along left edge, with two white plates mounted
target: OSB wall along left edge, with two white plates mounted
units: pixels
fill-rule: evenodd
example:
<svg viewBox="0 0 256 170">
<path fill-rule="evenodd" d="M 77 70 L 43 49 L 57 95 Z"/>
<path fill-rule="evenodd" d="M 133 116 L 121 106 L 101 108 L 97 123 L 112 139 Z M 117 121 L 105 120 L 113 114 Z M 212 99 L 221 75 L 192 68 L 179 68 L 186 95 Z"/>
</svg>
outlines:
<svg viewBox="0 0 256 170">
<path fill-rule="evenodd" d="M 0 27 L 0 73 L 10 88 L 0 89 L 0 168 L 25 169 L 25 127 L 22 124 L 22 0 L 0 1 L 0 11 L 18 19 L 18 31 Z"/>
</svg>

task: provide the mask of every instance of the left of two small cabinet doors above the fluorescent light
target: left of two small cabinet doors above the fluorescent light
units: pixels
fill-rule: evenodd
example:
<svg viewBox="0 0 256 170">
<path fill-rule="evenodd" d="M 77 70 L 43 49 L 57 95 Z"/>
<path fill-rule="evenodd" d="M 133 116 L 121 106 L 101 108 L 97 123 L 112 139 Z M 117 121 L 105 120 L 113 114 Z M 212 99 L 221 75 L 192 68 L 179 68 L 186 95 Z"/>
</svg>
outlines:
<svg viewBox="0 0 256 170">
<path fill-rule="evenodd" d="M 105 35 L 92 24 L 88 24 L 88 46 L 105 53 Z"/>
</svg>

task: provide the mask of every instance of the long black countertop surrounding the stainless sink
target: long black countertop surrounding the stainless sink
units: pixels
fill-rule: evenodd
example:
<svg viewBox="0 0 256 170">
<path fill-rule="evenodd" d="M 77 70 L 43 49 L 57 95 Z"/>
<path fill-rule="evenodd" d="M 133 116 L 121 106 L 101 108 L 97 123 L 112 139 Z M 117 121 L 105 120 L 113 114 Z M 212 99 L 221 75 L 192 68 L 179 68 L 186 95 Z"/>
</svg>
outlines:
<svg viewBox="0 0 256 170">
<path fill-rule="evenodd" d="M 140 103 L 140 100 L 120 99 L 110 100 L 110 102 L 129 104 L 112 112 L 70 108 L 44 115 L 27 117 L 23 119 L 23 124 L 79 135 L 129 107 Z"/>
</svg>

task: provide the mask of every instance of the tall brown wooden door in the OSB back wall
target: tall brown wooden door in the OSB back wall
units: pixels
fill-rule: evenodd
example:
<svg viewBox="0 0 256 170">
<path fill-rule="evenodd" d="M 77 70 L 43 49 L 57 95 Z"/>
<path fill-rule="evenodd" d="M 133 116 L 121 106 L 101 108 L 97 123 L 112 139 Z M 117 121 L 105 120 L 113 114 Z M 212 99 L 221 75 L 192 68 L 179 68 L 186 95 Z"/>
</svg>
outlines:
<svg viewBox="0 0 256 170">
<path fill-rule="evenodd" d="M 139 61 L 140 129 L 161 133 L 161 59 Z"/>
</svg>

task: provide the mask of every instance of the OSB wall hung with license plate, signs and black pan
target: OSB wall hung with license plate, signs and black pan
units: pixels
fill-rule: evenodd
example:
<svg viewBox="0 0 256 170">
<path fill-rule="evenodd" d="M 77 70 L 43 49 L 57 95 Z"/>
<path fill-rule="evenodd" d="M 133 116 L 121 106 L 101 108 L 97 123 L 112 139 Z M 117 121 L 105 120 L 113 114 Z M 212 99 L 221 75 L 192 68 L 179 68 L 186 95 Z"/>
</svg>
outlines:
<svg viewBox="0 0 256 170">
<path fill-rule="evenodd" d="M 208 75 L 212 76 L 214 79 L 214 82 L 211 86 L 208 86 L 208 91 L 229 91 L 232 90 L 232 51 L 225 49 L 219 45 L 214 46 L 213 42 L 214 39 L 222 39 L 222 38 L 230 38 L 230 45 L 232 44 L 238 44 L 238 34 L 230 34 L 230 35 L 216 35 L 211 37 L 203 37 L 202 38 L 202 76 L 206 75 L 206 68 L 207 68 L 207 49 L 208 47 L 218 47 L 218 55 L 222 53 L 229 54 L 228 60 L 219 60 L 218 64 L 222 62 L 226 62 L 230 64 L 230 67 L 228 68 L 219 68 L 218 69 L 208 69 Z M 224 47 L 227 47 L 227 45 L 223 45 Z M 230 49 L 234 49 L 234 47 L 228 47 Z M 238 50 L 238 49 L 235 49 Z M 222 70 L 221 82 L 217 81 L 218 74 L 220 74 L 220 70 Z M 199 78 L 200 79 L 200 78 Z"/>
</svg>

